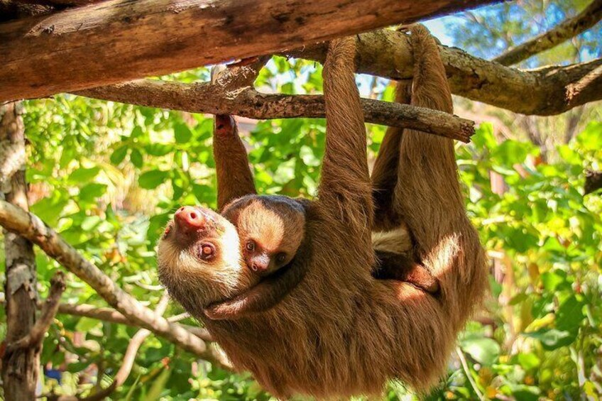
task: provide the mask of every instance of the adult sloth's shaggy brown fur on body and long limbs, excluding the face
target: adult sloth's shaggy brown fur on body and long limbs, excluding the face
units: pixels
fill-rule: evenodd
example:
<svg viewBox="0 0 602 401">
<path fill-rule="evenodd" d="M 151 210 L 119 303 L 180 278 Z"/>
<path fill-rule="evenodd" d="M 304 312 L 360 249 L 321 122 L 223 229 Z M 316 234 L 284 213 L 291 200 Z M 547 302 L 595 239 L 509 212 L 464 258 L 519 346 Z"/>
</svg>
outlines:
<svg viewBox="0 0 602 401">
<path fill-rule="evenodd" d="M 412 43 L 411 103 L 451 111 L 437 45 L 422 26 L 412 28 Z M 464 212 L 453 143 L 415 131 L 390 130 L 383 144 L 383 155 L 399 151 L 399 158 L 395 185 L 385 188 L 389 200 L 376 203 L 390 216 L 389 226 L 378 229 L 386 236 L 404 231 L 395 230 L 393 222 L 407 224 L 411 241 L 398 243 L 413 243 L 412 259 L 437 278 L 440 295 L 372 277 L 375 205 L 354 55 L 354 39 L 334 40 L 324 65 L 322 183 L 318 199 L 307 208 L 305 239 L 292 262 L 307 273 L 288 297 L 250 317 L 207 319 L 202 311 L 216 301 L 216 291 L 226 300 L 245 283 L 253 285 L 249 270 L 222 266 L 217 274 L 191 263 L 181 251 L 159 259 L 162 280 L 175 299 L 203 320 L 235 366 L 250 370 L 278 397 L 380 394 L 390 379 L 426 390 L 444 373 L 456 334 L 486 289 L 484 253 Z M 168 241 L 162 241 L 160 252 L 163 242 Z M 168 243 L 167 249 L 173 248 Z M 180 278 L 182 271 L 195 269 L 197 278 Z M 236 285 L 224 285 L 224 272 Z M 208 285 L 217 290 L 199 292 Z"/>
</svg>

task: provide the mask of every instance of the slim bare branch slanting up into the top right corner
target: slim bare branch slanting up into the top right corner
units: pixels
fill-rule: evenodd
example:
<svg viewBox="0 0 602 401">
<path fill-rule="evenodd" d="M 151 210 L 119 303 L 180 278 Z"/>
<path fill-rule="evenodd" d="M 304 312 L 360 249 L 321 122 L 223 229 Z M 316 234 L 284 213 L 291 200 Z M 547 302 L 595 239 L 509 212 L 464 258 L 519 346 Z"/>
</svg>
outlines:
<svg viewBox="0 0 602 401">
<path fill-rule="evenodd" d="M 498 55 L 493 61 L 503 65 L 518 64 L 522 60 L 542 53 L 545 50 L 554 48 L 563 43 L 565 40 L 574 38 L 576 35 L 587 31 L 592 26 L 596 25 L 602 18 L 602 0 L 593 0 L 584 11 L 577 14 L 573 18 L 569 18 L 551 30 L 538 35 L 527 42 L 522 43 L 514 48 L 506 50 L 503 54 Z"/>
</svg>

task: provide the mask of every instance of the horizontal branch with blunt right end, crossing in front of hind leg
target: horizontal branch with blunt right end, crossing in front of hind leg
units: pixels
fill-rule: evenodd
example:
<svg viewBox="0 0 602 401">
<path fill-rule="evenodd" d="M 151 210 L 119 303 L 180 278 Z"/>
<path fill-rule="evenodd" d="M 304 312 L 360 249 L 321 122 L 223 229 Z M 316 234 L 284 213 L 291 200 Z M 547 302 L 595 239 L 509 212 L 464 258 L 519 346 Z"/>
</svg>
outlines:
<svg viewBox="0 0 602 401">
<path fill-rule="evenodd" d="M 321 95 L 263 94 L 252 87 L 224 92 L 218 84 L 182 84 L 151 79 L 116 84 L 77 92 L 96 99 L 141 106 L 189 111 L 191 113 L 234 114 L 251 119 L 323 118 Z M 393 102 L 362 99 L 365 119 L 370 123 L 412 128 L 469 142 L 474 122 L 457 116 Z"/>
</svg>

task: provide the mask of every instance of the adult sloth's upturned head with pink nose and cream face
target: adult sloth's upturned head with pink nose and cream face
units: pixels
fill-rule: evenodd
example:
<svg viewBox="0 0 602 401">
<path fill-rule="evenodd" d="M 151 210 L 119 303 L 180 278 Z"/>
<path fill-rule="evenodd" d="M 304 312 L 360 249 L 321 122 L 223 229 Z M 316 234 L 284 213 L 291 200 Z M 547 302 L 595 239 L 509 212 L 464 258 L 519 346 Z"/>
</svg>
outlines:
<svg viewBox="0 0 602 401">
<path fill-rule="evenodd" d="M 227 300 L 258 278 L 243 263 L 234 226 L 211 209 L 175 212 L 158 245 L 159 279 L 188 312 Z"/>
</svg>

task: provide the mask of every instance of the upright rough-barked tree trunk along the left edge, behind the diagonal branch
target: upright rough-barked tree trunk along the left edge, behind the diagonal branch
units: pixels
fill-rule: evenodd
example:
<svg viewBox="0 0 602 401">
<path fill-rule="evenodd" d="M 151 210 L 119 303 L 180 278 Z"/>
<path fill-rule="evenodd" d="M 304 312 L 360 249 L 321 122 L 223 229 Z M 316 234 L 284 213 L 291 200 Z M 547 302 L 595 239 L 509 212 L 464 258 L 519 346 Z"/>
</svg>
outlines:
<svg viewBox="0 0 602 401">
<path fill-rule="evenodd" d="M 29 209 L 25 182 L 25 128 L 20 103 L 0 105 L 0 198 Z M 30 334 L 38 301 L 35 256 L 26 238 L 6 232 L 6 344 Z M 2 357 L 6 400 L 34 400 L 40 366 L 40 348 L 16 348 Z"/>
</svg>

